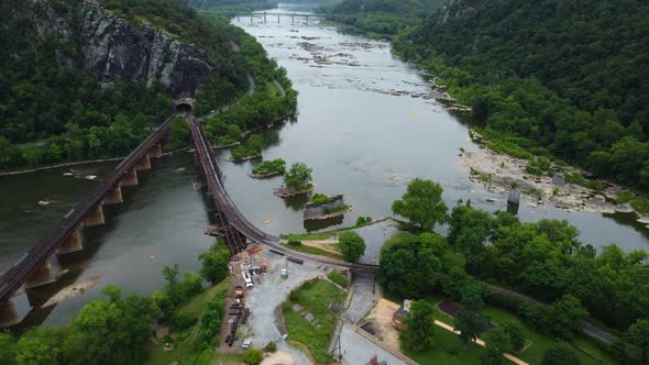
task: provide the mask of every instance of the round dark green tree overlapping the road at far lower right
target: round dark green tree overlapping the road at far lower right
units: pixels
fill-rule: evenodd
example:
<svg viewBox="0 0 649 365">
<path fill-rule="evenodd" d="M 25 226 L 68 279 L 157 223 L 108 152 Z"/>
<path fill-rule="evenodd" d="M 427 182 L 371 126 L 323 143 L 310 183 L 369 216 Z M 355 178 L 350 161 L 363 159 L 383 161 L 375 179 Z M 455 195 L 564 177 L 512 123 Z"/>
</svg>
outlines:
<svg viewBox="0 0 649 365">
<path fill-rule="evenodd" d="M 582 307 L 581 301 L 565 295 L 550 306 L 548 323 L 551 331 L 561 339 L 570 340 L 582 330 L 582 320 L 588 317 L 588 311 Z"/>
</svg>

